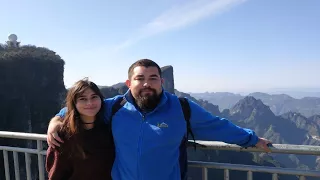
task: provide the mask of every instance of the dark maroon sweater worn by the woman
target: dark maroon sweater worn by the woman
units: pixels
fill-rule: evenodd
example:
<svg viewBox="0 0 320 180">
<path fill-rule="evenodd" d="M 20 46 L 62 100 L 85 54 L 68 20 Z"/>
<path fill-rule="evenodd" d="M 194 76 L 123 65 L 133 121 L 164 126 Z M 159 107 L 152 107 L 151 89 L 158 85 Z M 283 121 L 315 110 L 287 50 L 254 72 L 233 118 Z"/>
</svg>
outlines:
<svg viewBox="0 0 320 180">
<path fill-rule="evenodd" d="M 63 137 L 63 135 L 62 135 Z M 75 142 L 83 147 L 86 158 L 72 153 Z M 110 130 L 99 125 L 69 139 L 56 149 L 49 147 L 46 170 L 49 180 L 111 180 L 115 150 Z"/>
</svg>

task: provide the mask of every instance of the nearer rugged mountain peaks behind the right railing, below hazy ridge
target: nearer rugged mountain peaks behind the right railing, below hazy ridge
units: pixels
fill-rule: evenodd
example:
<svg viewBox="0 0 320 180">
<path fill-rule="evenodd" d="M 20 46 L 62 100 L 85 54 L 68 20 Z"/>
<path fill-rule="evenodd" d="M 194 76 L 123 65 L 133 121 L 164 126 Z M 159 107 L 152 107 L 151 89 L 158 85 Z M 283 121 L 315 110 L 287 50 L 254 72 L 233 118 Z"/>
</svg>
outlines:
<svg viewBox="0 0 320 180">
<path fill-rule="evenodd" d="M 253 129 L 260 137 L 267 138 L 276 144 L 320 145 L 319 116 L 306 118 L 296 112 L 276 116 L 261 100 L 252 96 L 247 96 L 236 103 L 226 117 L 241 127 Z M 314 156 L 284 154 L 270 156 L 286 167 L 319 168 L 319 162 L 316 162 Z"/>
</svg>

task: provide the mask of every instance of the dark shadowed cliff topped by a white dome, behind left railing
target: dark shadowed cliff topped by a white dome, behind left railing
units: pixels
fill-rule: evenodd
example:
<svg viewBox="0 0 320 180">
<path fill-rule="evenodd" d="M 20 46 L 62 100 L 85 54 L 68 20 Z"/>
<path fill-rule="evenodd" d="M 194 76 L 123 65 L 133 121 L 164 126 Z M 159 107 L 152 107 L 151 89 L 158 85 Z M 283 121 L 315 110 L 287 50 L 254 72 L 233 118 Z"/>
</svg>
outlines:
<svg viewBox="0 0 320 180">
<path fill-rule="evenodd" d="M 49 49 L 35 46 L 3 49 L 0 52 L 0 130 L 46 133 L 49 119 L 62 105 L 63 71 L 64 61 Z M 29 141 L 0 140 L 0 145 L 7 144 L 35 148 Z M 2 153 L 0 156 L 2 159 Z M 37 162 L 36 159 L 33 162 Z M 24 165 L 20 165 L 23 172 Z M 37 176 L 36 164 L 32 167 Z M 0 179 L 5 179 L 1 174 Z"/>
</svg>

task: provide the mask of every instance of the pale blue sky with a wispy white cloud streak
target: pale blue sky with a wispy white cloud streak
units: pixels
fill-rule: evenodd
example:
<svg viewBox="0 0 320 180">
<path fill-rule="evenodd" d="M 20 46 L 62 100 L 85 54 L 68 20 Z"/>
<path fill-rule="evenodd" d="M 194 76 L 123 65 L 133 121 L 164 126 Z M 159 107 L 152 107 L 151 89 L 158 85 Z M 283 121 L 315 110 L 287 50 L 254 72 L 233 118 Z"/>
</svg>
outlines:
<svg viewBox="0 0 320 180">
<path fill-rule="evenodd" d="M 44 46 L 66 86 L 127 78 L 136 60 L 174 67 L 184 92 L 319 88 L 319 0 L 0 0 L 0 42 Z"/>
</svg>

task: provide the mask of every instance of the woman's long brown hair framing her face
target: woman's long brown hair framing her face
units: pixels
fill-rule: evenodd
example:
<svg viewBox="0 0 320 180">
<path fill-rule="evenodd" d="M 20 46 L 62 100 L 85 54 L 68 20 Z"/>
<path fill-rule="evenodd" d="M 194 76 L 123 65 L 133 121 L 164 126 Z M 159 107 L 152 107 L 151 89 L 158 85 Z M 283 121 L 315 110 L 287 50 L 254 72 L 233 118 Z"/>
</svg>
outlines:
<svg viewBox="0 0 320 180">
<path fill-rule="evenodd" d="M 95 94 L 97 94 L 100 99 L 101 99 L 101 108 L 99 112 L 96 115 L 95 118 L 95 125 L 98 123 L 103 123 L 103 118 L 104 118 L 104 103 L 103 103 L 103 95 L 99 89 L 99 87 L 89 81 L 87 78 L 77 81 L 68 91 L 67 97 L 66 97 L 66 107 L 67 107 L 67 112 L 66 116 L 63 121 L 63 126 L 62 126 L 62 133 L 64 134 L 64 137 L 69 139 L 73 137 L 75 139 L 76 144 L 72 144 L 74 148 L 73 149 L 73 154 L 74 155 L 80 155 L 83 158 L 85 158 L 85 154 L 83 151 L 83 148 L 81 147 L 81 144 L 77 141 L 77 134 L 79 134 L 83 130 L 83 124 L 81 123 L 80 119 L 80 113 L 78 112 L 76 108 L 76 103 L 78 97 L 80 97 L 88 88 L 90 88 Z"/>
</svg>

